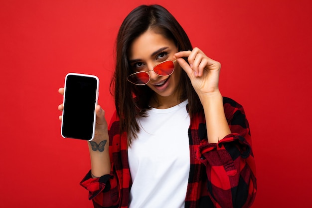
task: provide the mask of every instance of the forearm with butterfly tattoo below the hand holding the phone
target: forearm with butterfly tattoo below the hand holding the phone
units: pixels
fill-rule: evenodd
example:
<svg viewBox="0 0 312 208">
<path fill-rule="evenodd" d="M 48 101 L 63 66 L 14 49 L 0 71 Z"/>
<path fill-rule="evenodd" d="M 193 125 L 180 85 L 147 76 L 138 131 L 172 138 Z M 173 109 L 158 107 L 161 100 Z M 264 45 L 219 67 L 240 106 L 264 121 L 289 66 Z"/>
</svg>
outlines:
<svg viewBox="0 0 312 208">
<path fill-rule="evenodd" d="M 105 144 L 105 145 L 104 145 Z M 88 142 L 92 177 L 101 177 L 111 172 L 109 157 L 109 136 L 105 135 L 97 141 Z"/>
</svg>

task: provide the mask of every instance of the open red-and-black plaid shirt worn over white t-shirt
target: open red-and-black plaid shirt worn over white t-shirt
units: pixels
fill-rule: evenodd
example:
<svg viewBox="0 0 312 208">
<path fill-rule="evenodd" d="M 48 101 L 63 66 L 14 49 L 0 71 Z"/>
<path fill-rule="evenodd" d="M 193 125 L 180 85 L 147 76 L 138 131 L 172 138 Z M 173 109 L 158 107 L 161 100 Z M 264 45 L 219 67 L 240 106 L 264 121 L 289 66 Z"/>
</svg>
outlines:
<svg viewBox="0 0 312 208">
<path fill-rule="evenodd" d="M 209 144 L 205 117 L 192 117 L 188 130 L 190 172 L 185 208 L 249 208 L 256 196 L 256 170 L 249 124 L 241 105 L 223 98 L 232 134 L 218 144 Z M 127 135 L 119 135 L 116 114 L 109 127 L 110 175 L 92 179 L 91 171 L 81 181 L 95 208 L 128 208 L 131 176 Z"/>
</svg>

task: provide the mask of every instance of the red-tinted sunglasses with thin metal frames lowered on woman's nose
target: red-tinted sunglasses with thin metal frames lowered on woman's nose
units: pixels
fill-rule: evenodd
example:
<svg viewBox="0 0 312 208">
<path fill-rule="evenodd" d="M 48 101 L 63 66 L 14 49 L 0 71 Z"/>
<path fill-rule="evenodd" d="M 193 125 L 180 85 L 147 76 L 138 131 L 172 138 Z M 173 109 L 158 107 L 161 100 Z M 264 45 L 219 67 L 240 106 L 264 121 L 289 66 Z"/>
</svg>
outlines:
<svg viewBox="0 0 312 208">
<path fill-rule="evenodd" d="M 175 61 L 176 60 L 165 60 L 155 65 L 153 70 L 150 71 L 154 71 L 159 76 L 169 76 L 174 71 Z M 127 79 L 129 82 L 135 85 L 146 85 L 151 80 L 150 71 L 138 71 L 136 73 L 130 74 Z"/>
</svg>

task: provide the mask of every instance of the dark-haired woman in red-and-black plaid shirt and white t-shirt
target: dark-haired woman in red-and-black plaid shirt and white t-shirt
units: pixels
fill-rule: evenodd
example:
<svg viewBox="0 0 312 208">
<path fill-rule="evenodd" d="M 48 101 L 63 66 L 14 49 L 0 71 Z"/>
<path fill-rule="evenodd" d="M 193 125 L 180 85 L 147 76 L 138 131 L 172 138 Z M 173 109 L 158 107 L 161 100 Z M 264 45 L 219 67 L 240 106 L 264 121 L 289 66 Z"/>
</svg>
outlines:
<svg viewBox="0 0 312 208">
<path fill-rule="evenodd" d="M 81 182 L 94 207 L 250 207 L 249 125 L 242 106 L 219 91 L 220 63 L 192 48 L 159 5 L 131 11 L 116 53 L 116 114 L 108 128 L 96 107 L 92 142 L 105 147 L 88 143 L 91 171 Z"/>
</svg>

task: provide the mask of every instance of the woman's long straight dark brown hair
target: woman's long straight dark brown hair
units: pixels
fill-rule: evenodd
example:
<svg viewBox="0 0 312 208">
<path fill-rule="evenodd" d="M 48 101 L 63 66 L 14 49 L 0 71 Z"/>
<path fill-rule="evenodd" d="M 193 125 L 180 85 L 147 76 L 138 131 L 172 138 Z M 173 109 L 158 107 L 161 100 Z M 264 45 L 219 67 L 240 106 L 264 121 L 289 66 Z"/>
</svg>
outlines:
<svg viewBox="0 0 312 208">
<path fill-rule="evenodd" d="M 148 29 L 174 41 L 178 51 L 192 50 L 184 29 L 177 20 L 160 5 L 141 5 L 132 10 L 120 26 L 116 42 L 116 69 L 111 82 L 115 106 L 120 118 L 120 133 L 127 132 L 128 145 L 140 130 L 138 116 L 146 116 L 153 91 L 148 86 L 137 86 L 127 81 L 133 73 L 128 61 L 132 42 Z M 185 59 L 186 60 L 186 59 Z M 113 87 L 113 88 L 112 88 Z M 180 100 L 188 99 L 190 117 L 202 110 L 200 100 L 184 70 L 181 70 Z"/>
</svg>

